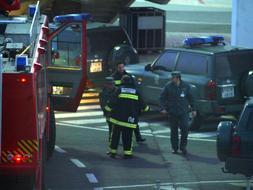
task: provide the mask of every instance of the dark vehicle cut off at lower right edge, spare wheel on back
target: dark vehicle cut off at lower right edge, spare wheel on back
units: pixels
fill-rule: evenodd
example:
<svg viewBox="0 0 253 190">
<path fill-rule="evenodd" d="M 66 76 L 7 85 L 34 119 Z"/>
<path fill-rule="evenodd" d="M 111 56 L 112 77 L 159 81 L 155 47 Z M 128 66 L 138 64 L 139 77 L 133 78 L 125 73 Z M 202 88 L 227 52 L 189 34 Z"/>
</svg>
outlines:
<svg viewBox="0 0 253 190">
<path fill-rule="evenodd" d="M 253 176 L 253 98 L 245 103 L 237 123 L 218 125 L 217 156 L 225 162 L 224 172 Z"/>
</svg>

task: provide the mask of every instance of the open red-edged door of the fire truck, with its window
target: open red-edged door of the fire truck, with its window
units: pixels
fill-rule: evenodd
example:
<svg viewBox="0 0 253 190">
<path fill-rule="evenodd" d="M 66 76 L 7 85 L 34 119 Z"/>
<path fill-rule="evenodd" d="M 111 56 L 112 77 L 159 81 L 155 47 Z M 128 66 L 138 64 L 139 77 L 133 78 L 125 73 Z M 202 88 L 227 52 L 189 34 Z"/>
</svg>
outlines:
<svg viewBox="0 0 253 190">
<path fill-rule="evenodd" d="M 81 32 L 80 32 L 81 31 Z M 76 111 L 86 83 L 86 25 L 69 24 L 49 42 L 48 79 L 54 109 Z"/>
</svg>

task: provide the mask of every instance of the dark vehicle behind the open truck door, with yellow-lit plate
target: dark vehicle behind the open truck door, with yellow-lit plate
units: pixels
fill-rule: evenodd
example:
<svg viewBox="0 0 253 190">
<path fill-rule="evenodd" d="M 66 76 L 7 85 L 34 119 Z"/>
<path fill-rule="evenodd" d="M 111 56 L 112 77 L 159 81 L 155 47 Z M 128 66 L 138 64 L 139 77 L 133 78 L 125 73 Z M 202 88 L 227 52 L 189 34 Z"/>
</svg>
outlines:
<svg viewBox="0 0 253 190">
<path fill-rule="evenodd" d="M 116 68 L 116 63 L 138 63 L 138 53 L 124 28 L 101 23 L 91 23 L 87 27 L 87 76 L 92 86 L 100 87 L 105 77 Z M 54 25 L 50 25 L 51 30 L 55 28 Z M 73 66 L 80 63 L 80 54 L 75 53 L 75 44 L 79 43 L 81 35 L 81 28 L 73 25 L 54 39 L 52 48 L 58 54 L 58 62 L 61 59 L 62 62 L 72 59 L 68 62 Z"/>
</svg>

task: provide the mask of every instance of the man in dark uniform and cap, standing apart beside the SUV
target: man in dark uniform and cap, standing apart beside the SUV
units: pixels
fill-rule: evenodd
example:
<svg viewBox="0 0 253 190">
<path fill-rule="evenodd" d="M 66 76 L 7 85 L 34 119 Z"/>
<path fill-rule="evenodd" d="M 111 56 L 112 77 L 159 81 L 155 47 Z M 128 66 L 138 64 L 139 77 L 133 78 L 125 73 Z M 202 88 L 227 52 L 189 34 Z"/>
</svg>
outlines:
<svg viewBox="0 0 253 190">
<path fill-rule="evenodd" d="M 165 85 L 160 96 L 160 103 L 161 113 L 169 115 L 172 152 L 176 154 L 179 148 L 183 154 L 187 154 L 189 110 L 193 109 L 193 97 L 190 86 L 181 80 L 179 71 L 172 72 L 171 82 Z M 196 115 L 195 111 L 193 111 L 193 115 Z M 180 145 L 178 142 L 178 128 L 181 131 Z"/>
</svg>

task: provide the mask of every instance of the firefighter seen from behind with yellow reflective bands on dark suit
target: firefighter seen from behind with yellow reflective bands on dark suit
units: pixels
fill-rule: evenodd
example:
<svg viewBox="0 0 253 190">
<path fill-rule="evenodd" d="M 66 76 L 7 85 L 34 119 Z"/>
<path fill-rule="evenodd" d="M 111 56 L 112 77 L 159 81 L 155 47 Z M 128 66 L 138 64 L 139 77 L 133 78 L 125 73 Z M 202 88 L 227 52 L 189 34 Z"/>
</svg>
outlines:
<svg viewBox="0 0 253 190">
<path fill-rule="evenodd" d="M 110 155 L 113 158 L 116 156 L 120 136 L 122 136 L 124 158 L 131 158 L 132 135 L 138 124 L 139 111 L 140 109 L 148 111 L 149 107 L 143 102 L 130 76 L 124 75 L 121 82 L 122 85 L 106 106 L 106 109 L 111 111 L 109 121 L 113 124 Z"/>
</svg>

